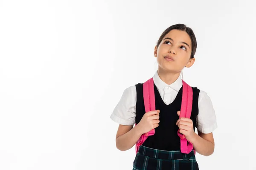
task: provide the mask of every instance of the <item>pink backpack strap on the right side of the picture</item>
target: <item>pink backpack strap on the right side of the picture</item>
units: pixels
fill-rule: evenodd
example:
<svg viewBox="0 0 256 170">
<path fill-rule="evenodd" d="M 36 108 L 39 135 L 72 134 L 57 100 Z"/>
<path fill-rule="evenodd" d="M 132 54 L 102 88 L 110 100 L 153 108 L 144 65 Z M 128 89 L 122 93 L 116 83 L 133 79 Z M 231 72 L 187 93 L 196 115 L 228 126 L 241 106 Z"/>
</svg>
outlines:
<svg viewBox="0 0 256 170">
<path fill-rule="evenodd" d="M 192 88 L 182 80 L 183 89 L 182 89 L 182 102 L 180 108 L 180 118 L 186 117 L 190 119 L 192 111 L 192 102 L 193 102 L 193 91 Z M 189 142 L 185 135 L 180 133 L 178 130 L 178 136 L 180 137 L 180 150 L 181 153 L 190 153 L 193 150 L 193 144 Z M 195 150 L 194 150 L 195 153 Z"/>
</svg>

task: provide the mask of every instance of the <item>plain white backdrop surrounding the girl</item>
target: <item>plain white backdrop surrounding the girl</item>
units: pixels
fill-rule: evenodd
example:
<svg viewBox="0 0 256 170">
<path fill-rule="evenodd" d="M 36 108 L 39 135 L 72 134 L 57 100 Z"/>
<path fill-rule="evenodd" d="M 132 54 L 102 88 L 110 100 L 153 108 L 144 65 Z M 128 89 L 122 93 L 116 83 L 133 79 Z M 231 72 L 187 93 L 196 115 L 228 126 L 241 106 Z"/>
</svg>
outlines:
<svg viewBox="0 0 256 170">
<path fill-rule="evenodd" d="M 254 3 L 254 4 L 253 4 Z M 184 80 L 215 108 L 201 170 L 256 170 L 255 2 L 0 0 L 0 170 L 131 170 L 109 116 L 157 71 L 154 45 L 184 23 L 198 41 Z"/>
</svg>

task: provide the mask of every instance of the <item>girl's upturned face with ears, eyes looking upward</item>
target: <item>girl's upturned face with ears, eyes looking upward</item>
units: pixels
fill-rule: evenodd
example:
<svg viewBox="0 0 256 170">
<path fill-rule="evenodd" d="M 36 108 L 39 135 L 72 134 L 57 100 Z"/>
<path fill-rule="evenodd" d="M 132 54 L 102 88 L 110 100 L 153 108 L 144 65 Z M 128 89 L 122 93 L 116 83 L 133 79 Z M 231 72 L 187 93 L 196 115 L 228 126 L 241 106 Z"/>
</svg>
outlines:
<svg viewBox="0 0 256 170">
<path fill-rule="evenodd" d="M 186 67 L 191 67 L 195 58 L 190 59 L 192 42 L 186 31 L 171 30 L 163 37 L 160 45 L 155 47 L 154 56 L 157 57 L 159 69 L 180 72 Z"/>
</svg>

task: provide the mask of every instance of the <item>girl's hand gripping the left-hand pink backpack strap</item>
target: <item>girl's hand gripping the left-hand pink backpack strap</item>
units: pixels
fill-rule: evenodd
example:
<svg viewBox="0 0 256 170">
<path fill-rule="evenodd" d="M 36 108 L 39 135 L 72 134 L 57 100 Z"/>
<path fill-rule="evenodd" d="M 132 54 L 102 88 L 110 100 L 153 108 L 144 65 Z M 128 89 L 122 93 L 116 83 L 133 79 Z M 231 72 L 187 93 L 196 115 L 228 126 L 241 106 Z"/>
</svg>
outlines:
<svg viewBox="0 0 256 170">
<path fill-rule="evenodd" d="M 149 111 L 145 113 L 138 123 L 138 129 L 140 129 L 140 133 L 144 134 L 149 132 L 150 130 L 158 127 L 159 121 L 159 110 L 156 111 Z"/>
</svg>

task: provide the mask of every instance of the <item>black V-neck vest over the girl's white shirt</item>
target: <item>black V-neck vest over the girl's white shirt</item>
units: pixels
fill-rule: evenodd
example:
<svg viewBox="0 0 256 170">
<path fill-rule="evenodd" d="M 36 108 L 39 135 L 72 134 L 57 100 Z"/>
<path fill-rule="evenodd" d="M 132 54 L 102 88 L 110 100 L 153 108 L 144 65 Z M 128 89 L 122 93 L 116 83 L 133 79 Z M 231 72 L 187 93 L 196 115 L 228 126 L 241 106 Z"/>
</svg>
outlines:
<svg viewBox="0 0 256 170">
<path fill-rule="evenodd" d="M 193 121 L 195 131 L 196 118 L 198 115 L 198 96 L 200 90 L 194 87 L 192 87 L 192 90 L 193 104 L 190 119 Z M 139 123 L 145 114 L 142 83 L 136 85 L 136 91 L 136 123 Z M 155 134 L 153 136 L 148 136 L 142 145 L 158 150 L 180 150 L 180 137 L 177 135 L 179 128 L 176 125 L 176 122 L 179 119 L 177 111 L 180 111 L 181 108 L 182 87 L 180 88 L 175 100 L 169 105 L 166 105 L 166 103 L 163 102 L 155 84 L 154 94 L 156 110 L 160 110 L 160 123 L 159 126 L 155 128 Z"/>
</svg>

